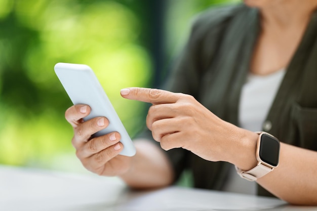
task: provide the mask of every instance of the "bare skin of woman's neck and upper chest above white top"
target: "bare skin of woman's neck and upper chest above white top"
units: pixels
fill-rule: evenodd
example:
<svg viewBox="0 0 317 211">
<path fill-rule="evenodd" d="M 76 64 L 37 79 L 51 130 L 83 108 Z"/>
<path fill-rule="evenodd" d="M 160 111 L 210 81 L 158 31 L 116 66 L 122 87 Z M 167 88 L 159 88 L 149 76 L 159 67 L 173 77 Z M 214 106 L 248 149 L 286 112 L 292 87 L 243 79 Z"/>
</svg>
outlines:
<svg viewBox="0 0 317 211">
<path fill-rule="evenodd" d="M 261 33 L 253 53 L 251 72 L 268 75 L 290 63 L 311 14 L 317 8 L 316 0 L 245 0 L 257 7 L 261 15 Z"/>
</svg>

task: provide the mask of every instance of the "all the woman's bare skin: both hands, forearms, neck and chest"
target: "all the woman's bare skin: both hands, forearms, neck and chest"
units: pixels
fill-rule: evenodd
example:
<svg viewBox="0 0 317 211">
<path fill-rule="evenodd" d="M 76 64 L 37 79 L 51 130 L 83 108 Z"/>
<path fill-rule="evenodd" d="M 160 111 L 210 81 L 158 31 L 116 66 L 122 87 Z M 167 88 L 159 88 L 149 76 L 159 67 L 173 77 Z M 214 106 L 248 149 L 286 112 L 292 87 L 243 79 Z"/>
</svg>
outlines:
<svg viewBox="0 0 317 211">
<path fill-rule="evenodd" d="M 317 7 L 317 1 L 245 0 L 261 14 L 261 33 L 251 61 L 251 71 L 268 75 L 287 67 Z M 163 90 L 123 89 L 124 98 L 151 103 L 146 118 L 153 138 L 165 150 L 184 148 L 210 161 L 227 161 L 243 170 L 256 163 L 258 135 L 223 121 L 192 96 Z M 105 117 L 84 122 L 87 105 L 74 105 L 65 118 L 72 125 L 76 155 L 91 172 L 119 176 L 133 188 L 165 187 L 174 173 L 162 150 L 146 140 L 135 140 L 133 157 L 118 155 L 120 134 L 91 135 L 108 125 Z M 190 130 L 188 130 L 190 129 Z M 244 153 L 236 153 L 243 151 Z M 280 165 L 256 182 L 275 196 L 293 204 L 317 205 L 317 152 L 281 143 Z"/>
</svg>

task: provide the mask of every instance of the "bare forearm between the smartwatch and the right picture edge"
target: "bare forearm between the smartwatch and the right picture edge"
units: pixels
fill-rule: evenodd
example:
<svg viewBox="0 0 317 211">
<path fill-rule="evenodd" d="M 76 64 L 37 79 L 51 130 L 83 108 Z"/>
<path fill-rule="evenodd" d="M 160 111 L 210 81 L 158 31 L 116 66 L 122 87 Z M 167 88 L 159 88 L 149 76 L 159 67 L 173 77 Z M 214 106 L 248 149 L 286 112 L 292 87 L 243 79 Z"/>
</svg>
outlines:
<svg viewBox="0 0 317 211">
<path fill-rule="evenodd" d="M 257 182 L 287 202 L 316 205 L 317 152 L 281 143 L 279 166 Z"/>
</svg>

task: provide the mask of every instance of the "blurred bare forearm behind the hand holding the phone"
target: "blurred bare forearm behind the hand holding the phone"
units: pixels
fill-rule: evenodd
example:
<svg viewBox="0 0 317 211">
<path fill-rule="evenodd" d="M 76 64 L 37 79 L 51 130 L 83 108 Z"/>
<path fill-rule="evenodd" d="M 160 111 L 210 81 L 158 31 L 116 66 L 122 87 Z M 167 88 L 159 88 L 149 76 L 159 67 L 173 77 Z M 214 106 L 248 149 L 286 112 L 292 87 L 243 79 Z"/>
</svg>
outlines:
<svg viewBox="0 0 317 211">
<path fill-rule="evenodd" d="M 173 170 L 165 154 L 146 140 L 134 141 L 137 149 L 130 170 L 121 178 L 132 188 L 159 188 L 173 182 Z"/>
</svg>

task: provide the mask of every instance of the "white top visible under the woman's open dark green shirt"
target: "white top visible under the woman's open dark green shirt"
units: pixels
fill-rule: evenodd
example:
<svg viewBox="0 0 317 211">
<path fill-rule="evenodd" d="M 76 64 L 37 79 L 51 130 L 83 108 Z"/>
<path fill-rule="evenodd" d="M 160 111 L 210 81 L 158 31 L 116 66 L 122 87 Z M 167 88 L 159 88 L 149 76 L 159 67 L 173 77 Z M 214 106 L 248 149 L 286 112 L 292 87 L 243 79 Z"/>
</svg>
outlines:
<svg viewBox="0 0 317 211">
<path fill-rule="evenodd" d="M 265 76 L 248 74 L 247 81 L 242 88 L 239 105 L 239 124 L 241 128 L 254 132 L 262 130 L 262 124 L 285 72 L 285 69 L 281 69 Z M 245 194 L 255 194 L 257 191 L 256 183 L 247 181 L 237 175 L 233 165 L 223 190 Z"/>
</svg>

